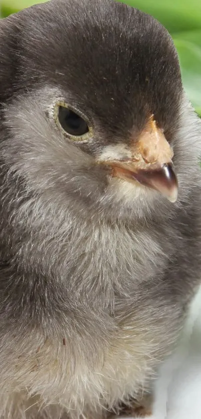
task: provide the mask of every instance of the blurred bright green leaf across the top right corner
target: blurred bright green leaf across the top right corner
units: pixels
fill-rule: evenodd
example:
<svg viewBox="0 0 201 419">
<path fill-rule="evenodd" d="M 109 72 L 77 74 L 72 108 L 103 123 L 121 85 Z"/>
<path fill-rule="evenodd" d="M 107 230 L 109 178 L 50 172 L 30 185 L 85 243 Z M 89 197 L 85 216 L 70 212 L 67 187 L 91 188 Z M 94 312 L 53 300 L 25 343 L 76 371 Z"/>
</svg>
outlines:
<svg viewBox="0 0 201 419">
<path fill-rule="evenodd" d="M 201 28 L 201 0 L 123 0 L 123 2 L 152 14 L 170 32 Z"/>
</svg>

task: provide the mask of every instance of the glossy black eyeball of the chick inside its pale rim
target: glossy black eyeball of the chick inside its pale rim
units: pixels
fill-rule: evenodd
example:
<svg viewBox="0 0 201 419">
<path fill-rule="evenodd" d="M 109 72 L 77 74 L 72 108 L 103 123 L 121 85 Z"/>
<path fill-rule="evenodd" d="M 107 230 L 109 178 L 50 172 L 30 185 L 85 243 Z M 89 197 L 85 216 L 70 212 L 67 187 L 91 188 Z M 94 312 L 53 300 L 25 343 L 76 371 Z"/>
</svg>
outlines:
<svg viewBox="0 0 201 419">
<path fill-rule="evenodd" d="M 70 135 L 79 137 L 89 132 L 89 127 L 85 120 L 64 106 L 59 106 L 58 120 L 64 131 Z"/>
</svg>

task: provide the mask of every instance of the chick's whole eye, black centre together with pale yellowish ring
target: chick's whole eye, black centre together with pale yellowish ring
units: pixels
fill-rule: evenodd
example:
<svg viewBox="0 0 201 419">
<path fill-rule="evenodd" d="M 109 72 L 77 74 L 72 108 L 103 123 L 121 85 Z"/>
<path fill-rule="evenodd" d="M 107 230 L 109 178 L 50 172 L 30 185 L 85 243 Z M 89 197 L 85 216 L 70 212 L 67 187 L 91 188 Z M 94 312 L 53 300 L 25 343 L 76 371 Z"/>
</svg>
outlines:
<svg viewBox="0 0 201 419">
<path fill-rule="evenodd" d="M 93 135 L 93 129 L 88 118 L 74 106 L 63 100 L 54 105 L 54 121 L 62 133 L 74 141 L 87 141 Z"/>
</svg>

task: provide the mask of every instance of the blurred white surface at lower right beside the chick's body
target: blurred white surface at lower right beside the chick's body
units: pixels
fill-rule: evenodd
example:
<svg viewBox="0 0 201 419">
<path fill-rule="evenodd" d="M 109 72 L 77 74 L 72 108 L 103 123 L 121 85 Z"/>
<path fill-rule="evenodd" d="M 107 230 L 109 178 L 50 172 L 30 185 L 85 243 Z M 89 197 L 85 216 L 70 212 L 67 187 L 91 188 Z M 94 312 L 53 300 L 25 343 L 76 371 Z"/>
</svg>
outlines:
<svg viewBox="0 0 201 419">
<path fill-rule="evenodd" d="M 161 369 L 155 393 L 149 419 L 201 419 L 201 289 L 177 353 Z"/>
</svg>

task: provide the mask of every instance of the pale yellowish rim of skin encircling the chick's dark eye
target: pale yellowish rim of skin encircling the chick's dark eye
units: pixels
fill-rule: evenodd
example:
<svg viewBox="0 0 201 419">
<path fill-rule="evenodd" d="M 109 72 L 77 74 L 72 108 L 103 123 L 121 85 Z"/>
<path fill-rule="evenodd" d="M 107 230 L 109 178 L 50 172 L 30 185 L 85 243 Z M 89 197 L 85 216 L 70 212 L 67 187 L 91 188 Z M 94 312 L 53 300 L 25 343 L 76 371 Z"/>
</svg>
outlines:
<svg viewBox="0 0 201 419">
<path fill-rule="evenodd" d="M 62 128 L 59 120 L 58 120 L 58 114 L 59 114 L 59 107 L 62 106 L 66 109 L 71 110 L 72 112 L 75 112 L 77 115 L 79 115 L 82 119 L 84 119 L 84 121 L 87 123 L 89 131 L 86 134 L 83 135 L 71 135 L 68 134 L 66 131 L 64 131 L 64 129 Z M 89 119 L 76 107 L 68 105 L 66 102 L 64 102 L 62 99 L 58 99 L 55 103 L 54 103 L 54 107 L 53 107 L 53 118 L 54 121 L 56 123 L 56 125 L 58 126 L 59 129 L 62 130 L 63 134 L 65 135 L 65 137 L 69 138 L 69 139 L 73 139 L 74 141 L 79 141 L 79 142 L 86 142 L 88 141 L 92 135 L 93 135 L 93 127 L 90 124 Z"/>
</svg>

